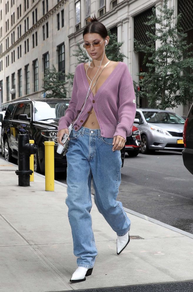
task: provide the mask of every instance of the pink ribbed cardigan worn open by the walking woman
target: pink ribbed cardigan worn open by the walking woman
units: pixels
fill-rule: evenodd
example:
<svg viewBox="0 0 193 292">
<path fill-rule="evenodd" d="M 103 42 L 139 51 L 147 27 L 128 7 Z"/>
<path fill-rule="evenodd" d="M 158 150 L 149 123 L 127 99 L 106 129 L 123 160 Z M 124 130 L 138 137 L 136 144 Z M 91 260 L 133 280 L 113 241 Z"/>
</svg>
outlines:
<svg viewBox="0 0 193 292">
<path fill-rule="evenodd" d="M 69 127 L 84 104 L 88 89 L 89 83 L 84 63 L 81 63 L 76 67 L 71 100 L 65 116 L 59 120 L 58 130 Z M 92 107 L 99 122 L 102 137 L 112 138 L 120 135 L 126 140 L 126 136 L 132 134 L 136 102 L 133 81 L 127 64 L 119 62 L 96 94 L 90 93 L 83 112 L 74 124 L 75 131 L 83 125 Z"/>
</svg>

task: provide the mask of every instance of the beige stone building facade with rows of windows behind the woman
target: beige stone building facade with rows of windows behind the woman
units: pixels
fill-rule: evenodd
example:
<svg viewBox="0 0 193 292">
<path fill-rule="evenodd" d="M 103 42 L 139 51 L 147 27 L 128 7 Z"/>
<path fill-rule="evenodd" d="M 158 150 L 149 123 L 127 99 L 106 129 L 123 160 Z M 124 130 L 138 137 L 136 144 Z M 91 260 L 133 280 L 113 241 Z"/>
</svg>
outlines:
<svg viewBox="0 0 193 292">
<path fill-rule="evenodd" d="M 168 0 L 168 6 L 175 8 L 175 15 L 178 13 L 178 1 Z M 184 3 L 191 1 L 183 0 Z M 51 68 L 52 64 L 66 74 L 74 73 L 76 43 L 83 43 L 86 20 L 93 14 L 117 33 L 119 42 L 124 41 L 121 50 L 129 57 L 124 62 L 132 78 L 138 82 L 136 73 L 142 68 L 143 55 L 134 52 L 134 34 L 135 38 L 144 37 L 143 22 L 152 7 L 157 6 L 162 6 L 162 0 L 0 0 L 0 86 L 3 87 L 3 102 L 20 97 L 43 97 L 44 69 Z M 188 32 L 188 42 L 191 42 L 193 23 L 184 31 Z M 68 82 L 66 87 L 70 96 Z M 146 101 L 140 105 L 146 106 Z M 180 106 L 174 111 L 186 115 L 188 108 Z"/>
</svg>

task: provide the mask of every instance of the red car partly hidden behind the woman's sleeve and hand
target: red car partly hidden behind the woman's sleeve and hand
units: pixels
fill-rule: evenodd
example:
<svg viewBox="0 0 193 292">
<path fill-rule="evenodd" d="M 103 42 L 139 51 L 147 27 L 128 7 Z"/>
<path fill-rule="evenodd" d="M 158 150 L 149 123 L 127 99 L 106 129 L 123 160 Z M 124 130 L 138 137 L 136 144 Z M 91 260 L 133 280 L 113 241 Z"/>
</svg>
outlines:
<svg viewBox="0 0 193 292">
<path fill-rule="evenodd" d="M 130 157 L 134 157 L 139 154 L 140 147 L 141 147 L 140 131 L 137 127 L 133 126 L 132 135 L 127 137 L 125 143 L 125 152 L 127 152 Z"/>
</svg>

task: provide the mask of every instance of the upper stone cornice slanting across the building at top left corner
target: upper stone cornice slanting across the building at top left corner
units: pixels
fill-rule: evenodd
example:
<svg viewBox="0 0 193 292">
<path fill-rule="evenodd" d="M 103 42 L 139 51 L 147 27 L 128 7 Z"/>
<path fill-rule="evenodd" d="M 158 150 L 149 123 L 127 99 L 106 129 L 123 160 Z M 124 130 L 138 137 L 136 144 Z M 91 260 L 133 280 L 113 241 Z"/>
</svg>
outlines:
<svg viewBox="0 0 193 292">
<path fill-rule="evenodd" d="M 8 49 L 6 49 L 3 54 L 0 55 L 0 58 L 4 57 L 7 53 L 9 53 L 14 47 L 18 46 L 22 40 L 26 39 L 26 37 L 31 34 L 31 32 L 33 32 L 34 30 L 36 30 L 42 23 L 44 23 L 49 16 L 51 16 L 56 10 L 58 10 L 60 7 L 62 7 L 66 1 L 68 0 L 62 0 L 59 3 L 57 3 L 52 9 L 50 9 L 46 14 L 44 14 L 44 16 L 42 16 L 33 26 L 31 26 L 30 29 L 28 29 L 28 31 L 26 31 L 19 39 L 16 40 L 16 42 L 14 42 Z M 27 15 L 24 17 L 26 18 Z M 18 24 L 16 25 L 18 26 Z M 15 27 L 16 27 L 15 26 Z M 14 27 L 14 29 L 15 29 Z M 12 30 L 14 30 L 12 29 Z M 11 31 L 9 32 L 9 34 L 11 33 Z M 6 37 L 4 37 L 5 39 Z"/>
</svg>

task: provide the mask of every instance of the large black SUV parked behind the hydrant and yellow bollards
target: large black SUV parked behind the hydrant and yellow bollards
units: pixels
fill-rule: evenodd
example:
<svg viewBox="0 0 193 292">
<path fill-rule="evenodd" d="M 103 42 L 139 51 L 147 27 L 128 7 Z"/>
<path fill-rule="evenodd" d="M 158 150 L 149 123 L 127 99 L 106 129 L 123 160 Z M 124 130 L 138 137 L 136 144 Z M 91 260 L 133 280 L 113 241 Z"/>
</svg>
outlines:
<svg viewBox="0 0 193 292">
<path fill-rule="evenodd" d="M 1 151 L 5 160 L 18 158 L 18 135 L 28 133 L 29 138 L 37 145 L 37 154 L 34 155 L 34 170 L 44 172 L 44 141 L 53 141 L 57 134 L 60 117 L 65 115 L 70 99 L 24 99 L 11 102 L 5 113 L 2 123 Z M 137 132 L 138 133 L 138 132 Z M 136 132 L 133 139 L 136 140 Z M 54 146 L 55 172 L 66 170 L 66 156 L 56 152 Z M 122 166 L 125 149 L 121 151 Z"/>
</svg>

